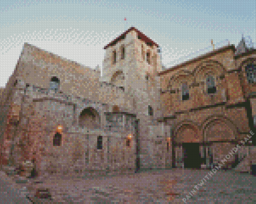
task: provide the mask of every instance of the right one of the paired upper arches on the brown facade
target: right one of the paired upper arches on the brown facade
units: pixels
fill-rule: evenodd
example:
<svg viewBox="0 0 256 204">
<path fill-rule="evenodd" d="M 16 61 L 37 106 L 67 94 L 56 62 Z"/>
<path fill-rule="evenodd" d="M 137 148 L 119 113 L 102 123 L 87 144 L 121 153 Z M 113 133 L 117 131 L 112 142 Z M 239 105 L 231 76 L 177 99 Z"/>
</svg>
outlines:
<svg viewBox="0 0 256 204">
<path fill-rule="evenodd" d="M 208 65 L 211 65 L 212 68 L 209 68 Z M 220 76 L 226 72 L 225 67 L 216 60 L 207 60 L 201 62 L 196 68 L 193 70 L 192 74 L 197 79 L 203 79 L 206 75 Z M 200 77 L 198 77 L 200 76 Z"/>
</svg>

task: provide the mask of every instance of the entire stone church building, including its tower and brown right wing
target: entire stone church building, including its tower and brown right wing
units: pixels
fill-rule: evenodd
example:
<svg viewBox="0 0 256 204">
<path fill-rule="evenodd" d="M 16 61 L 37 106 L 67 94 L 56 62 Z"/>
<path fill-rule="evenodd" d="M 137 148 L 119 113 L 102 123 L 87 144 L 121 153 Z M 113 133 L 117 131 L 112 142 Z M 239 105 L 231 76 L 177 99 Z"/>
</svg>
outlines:
<svg viewBox="0 0 256 204">
<path fill-rule="evenodd" d="M 0 92 L 2 167 L 25 169 L 29 161 L 37 174 L 211 168 L 254 130 L 256 86 L 246 66 L 256 68 L 256 50 L 235 56 L 226 46 L 162 71 L 159 46 L 135 28 L 104 49 L 100 73 L 24 45 Z"/>
</svg>

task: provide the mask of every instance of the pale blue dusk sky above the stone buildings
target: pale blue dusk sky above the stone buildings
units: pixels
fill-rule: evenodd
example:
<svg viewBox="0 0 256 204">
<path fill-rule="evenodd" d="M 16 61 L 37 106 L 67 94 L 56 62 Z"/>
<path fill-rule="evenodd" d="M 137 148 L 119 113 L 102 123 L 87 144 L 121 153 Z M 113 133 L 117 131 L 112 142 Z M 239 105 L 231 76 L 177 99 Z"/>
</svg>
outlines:
<svg viewBox="0 0 256 204">
<path fill-rule="evenodd" d="M 169 68 L 191 59 L 191 52 L 209 52 L 211 39 L 237 46 L 244 34 L 255 47 L 255 11 L 254 0 L 1 0 L 0 87 L 25 42 L 93 69 L 102 67 L 103 47 L 133 26 L 160 45 Z"/>
</svg>

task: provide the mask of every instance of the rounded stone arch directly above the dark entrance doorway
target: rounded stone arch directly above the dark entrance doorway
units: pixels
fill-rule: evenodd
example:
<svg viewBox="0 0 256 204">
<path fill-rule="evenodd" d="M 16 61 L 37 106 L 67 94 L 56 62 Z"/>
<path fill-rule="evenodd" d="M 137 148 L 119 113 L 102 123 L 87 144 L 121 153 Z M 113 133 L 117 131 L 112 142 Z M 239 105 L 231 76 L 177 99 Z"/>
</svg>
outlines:
<svg viewBox="0 0 256 204">
<path fill-rule="evenodd" d="M 173 133 L 175 143 L 201 142 L 203 139 L 200 127 L 191 121 L 182 121 L 175 127 Z"/>
</svg>

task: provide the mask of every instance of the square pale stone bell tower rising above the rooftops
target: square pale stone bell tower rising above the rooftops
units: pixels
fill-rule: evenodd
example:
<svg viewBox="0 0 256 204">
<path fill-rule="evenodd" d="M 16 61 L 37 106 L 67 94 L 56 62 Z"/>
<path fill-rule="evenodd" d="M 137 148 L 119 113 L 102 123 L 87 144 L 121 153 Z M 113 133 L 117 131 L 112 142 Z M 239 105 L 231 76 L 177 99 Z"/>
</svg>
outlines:
<svg viewBox="0 0 256 204">
<path fill-rule="evenodd" d="M 132 27 L 104 47 L 101 81 L 126 90 L 145 89 L 147 76 L 162 70 L 159 46 Z"/>
</svg>

